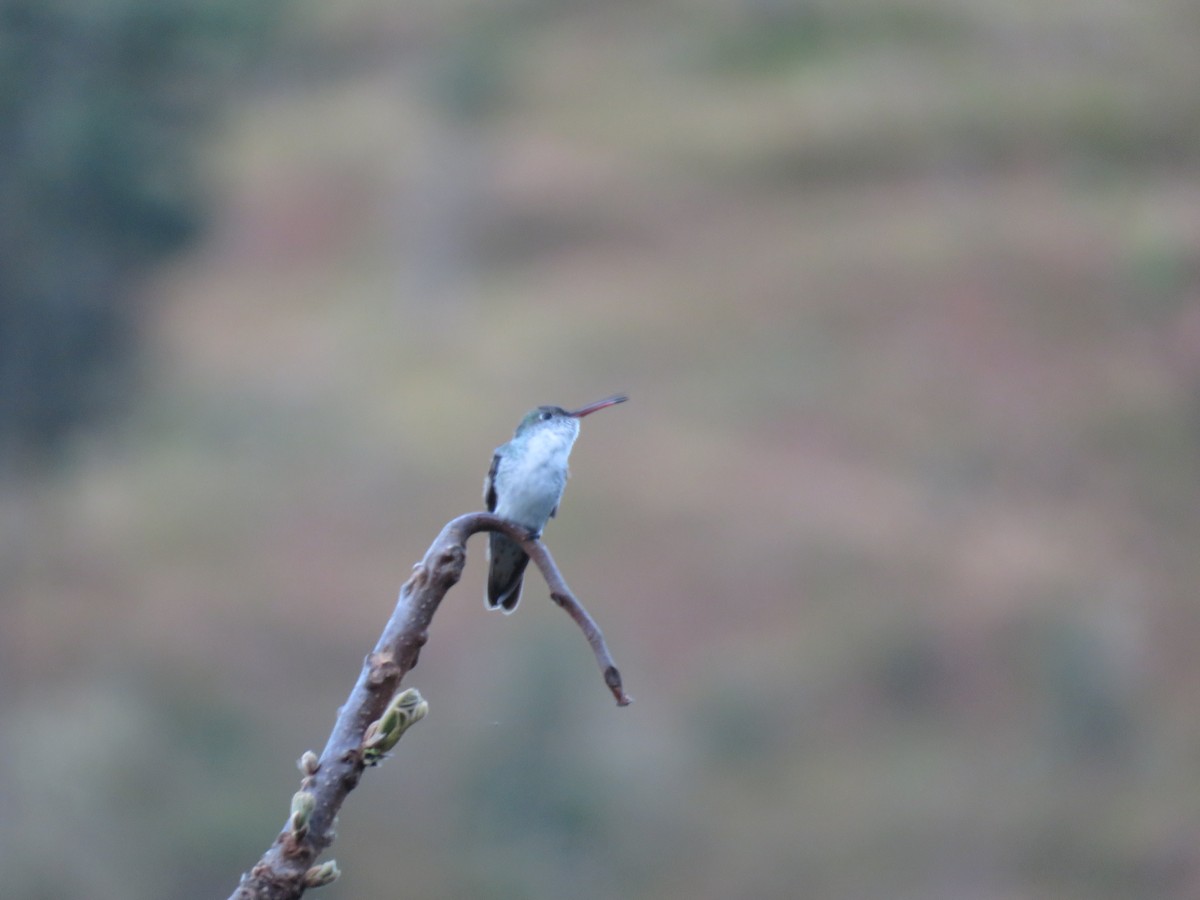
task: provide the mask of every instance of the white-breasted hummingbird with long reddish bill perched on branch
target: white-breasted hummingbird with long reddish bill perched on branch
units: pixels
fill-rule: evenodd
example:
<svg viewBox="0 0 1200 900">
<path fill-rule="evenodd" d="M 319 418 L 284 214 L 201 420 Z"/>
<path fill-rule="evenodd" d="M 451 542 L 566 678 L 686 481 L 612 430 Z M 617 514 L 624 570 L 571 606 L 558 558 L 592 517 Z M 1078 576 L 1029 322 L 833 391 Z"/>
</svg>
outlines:
<svg viewBox="0 0 1200 900">
<path fill-rule="evenodd" d="M 487 511 L 541 536 L 546 522 L 558 512 L 566 487 L 566 458 L 580 434 L 580 419 L 598 409 L 624 403 L 617 394 L 575 410 L 538 407 L 524 414 L 512 440 L 496 448 L 492 466 L 484 479 Z M 517 608 L 521 581 L 529 557 L 508 535 L 492 532 L 487 545 L 487 606 L 505 613 Z"/>
</svg>

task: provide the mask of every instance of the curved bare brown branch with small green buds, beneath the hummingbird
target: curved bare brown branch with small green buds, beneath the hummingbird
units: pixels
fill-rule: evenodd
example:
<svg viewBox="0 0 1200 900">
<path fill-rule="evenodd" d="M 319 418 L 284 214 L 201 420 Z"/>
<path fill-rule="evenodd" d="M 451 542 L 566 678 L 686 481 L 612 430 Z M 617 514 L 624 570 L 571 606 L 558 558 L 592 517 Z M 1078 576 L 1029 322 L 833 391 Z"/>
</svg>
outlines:
<svg viewBox="0 0 1200 900">
<path fill-rule="evenodd" d="M 320 866 L 313 862 L 334 842 L 334 821 L 364 769 L 379 762 L 400 733 L 424 715 L 420 695 L 406 692 L 401 698 L 396 691 L 401 679 L 416 665 L 433 613 L 462 577 L 467 539 L 476 532 L 503 532 L 524 548 L 545 576 L 554 602 L 566 610 L 587 637 L 618 706 L 631 702 L 604 635 L 566 587 L 545 545 L 520 526 L 490 512 L 458 516 L 446 523 L 401 587 L 391 618 L 364 660 L 354 690 L 337 712 L 325 750 L 319 760 L 311 752 L 301 757 L 304 779 L 283 830 L 242 876 L 230 900 L 294 900 L 306 888 L 328 884 L 337 877 L 332 860 Z"/>
</svg>

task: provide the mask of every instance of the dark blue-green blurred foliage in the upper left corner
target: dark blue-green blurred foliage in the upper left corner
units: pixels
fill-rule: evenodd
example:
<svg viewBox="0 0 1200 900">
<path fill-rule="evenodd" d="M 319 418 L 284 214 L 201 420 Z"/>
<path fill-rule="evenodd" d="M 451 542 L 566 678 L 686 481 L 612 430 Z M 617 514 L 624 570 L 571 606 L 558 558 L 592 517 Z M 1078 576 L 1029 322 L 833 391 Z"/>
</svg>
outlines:
<svg viewBox="0 0 1200 900">
<path fill-rule="evenodd" d="M 0 474 L 124 412 L 131 294 L 199 227 L 204 126 L 274 6 L 0 2 Z"/>
</svg>

